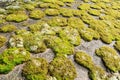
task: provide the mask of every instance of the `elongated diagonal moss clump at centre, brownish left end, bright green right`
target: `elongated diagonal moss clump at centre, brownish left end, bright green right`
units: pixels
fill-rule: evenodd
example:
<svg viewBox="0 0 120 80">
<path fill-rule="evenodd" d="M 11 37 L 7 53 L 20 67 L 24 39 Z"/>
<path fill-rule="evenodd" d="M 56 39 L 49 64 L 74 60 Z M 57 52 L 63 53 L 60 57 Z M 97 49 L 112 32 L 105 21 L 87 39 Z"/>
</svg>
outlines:
<svg viewBox="0 0 120 80">
<path fill-rule="evenodd" d="M 50 47 L 56 55 L 73 54 L 74 47 L 67 40 L 60 39 L 56 36 L 48 37 L 46 44 Z"/>
</svg>

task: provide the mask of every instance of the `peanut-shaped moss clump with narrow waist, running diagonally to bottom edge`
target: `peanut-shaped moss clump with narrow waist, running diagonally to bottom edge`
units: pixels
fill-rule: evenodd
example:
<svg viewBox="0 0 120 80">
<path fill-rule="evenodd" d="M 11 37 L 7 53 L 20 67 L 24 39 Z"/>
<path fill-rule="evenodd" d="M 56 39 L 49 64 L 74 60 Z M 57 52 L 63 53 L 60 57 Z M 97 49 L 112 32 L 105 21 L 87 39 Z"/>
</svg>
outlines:
<svg viewBox="0 0 120 80">
<path fill-rule="evenodd" d="M 96 66 L 92 58 L 85 52 L 79 51 L 74 56 L 75 61 L 89 70 L 89 77 L 92 80 L 105 80 L 105 71 Z"/>
</svg>

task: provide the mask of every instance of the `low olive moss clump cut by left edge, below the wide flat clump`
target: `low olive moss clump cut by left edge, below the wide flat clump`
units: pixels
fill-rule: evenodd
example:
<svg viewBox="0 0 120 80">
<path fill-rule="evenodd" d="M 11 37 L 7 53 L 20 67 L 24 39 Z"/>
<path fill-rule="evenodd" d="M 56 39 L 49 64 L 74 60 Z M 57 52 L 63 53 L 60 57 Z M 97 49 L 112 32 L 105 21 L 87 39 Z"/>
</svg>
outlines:
<svg viewBox="0 0 120 80">
<path fill-rule="evenodd" d="M 13 32 L 17 29 L 17 27 L 15 25 L 12 25 L 12 24 L 7 24 L 7 25 L 4 25 L 0 28 L 0 32 Z"/>
</svg>

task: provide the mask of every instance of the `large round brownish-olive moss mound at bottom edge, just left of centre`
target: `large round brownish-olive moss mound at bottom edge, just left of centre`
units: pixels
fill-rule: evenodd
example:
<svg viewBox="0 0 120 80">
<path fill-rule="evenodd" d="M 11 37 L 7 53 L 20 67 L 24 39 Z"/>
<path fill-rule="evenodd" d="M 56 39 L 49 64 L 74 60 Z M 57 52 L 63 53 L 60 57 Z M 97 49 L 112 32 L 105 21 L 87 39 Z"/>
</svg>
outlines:
<svg viewBox="0 0 120 80">
<path fill-rule="evenodd" d="M 55 57 L 49 65 L 49 72 L 57 80 L 74 80 L 77 76 L 73 63 L 66 57 Z"/>
</svg>

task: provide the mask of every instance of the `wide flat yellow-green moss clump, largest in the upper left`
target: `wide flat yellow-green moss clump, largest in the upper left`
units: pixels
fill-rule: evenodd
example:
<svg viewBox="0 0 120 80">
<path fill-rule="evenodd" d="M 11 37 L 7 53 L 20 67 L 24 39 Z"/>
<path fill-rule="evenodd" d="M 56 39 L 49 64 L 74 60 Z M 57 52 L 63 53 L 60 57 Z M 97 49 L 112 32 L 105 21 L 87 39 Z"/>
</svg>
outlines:
<svg viewBox="0 0 120 80">
<path fill-rule="evenodd" d="M 28 16 L 26 15 L 25 12 L 13 13 L 6 16 L 7 21 L 22 22 L 27 19 L 28 19 Z"/>
</svg>

